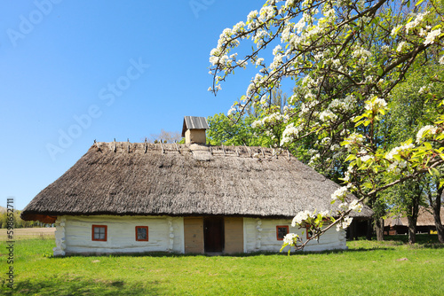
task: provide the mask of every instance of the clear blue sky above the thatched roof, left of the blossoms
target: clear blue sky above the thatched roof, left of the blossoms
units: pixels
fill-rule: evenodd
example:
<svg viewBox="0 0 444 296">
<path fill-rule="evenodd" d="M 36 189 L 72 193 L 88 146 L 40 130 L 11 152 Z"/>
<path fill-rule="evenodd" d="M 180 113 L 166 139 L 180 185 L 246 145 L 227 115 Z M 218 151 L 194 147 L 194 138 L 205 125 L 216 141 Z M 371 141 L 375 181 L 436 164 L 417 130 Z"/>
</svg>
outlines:
<svg viewBox="0 0 444 296">
<path fill-rule="evenodd" d="M 210 50 L 259 1 L 0 2 L 0 192 L 23 209 L 100 142 L 226 113 L 251 71 L 208 92 Z M 285 92 L 286 90 L 284 90 Z M 69 138 L 67 138 L 69 137 Z"/>
</svg>

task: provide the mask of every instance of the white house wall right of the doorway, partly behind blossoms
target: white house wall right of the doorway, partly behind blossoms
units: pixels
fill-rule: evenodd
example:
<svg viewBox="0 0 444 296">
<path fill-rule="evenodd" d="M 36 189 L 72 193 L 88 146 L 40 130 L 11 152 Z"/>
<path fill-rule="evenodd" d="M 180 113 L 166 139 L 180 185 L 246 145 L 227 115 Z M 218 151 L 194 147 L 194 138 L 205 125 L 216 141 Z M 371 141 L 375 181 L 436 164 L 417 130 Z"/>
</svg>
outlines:
<svg viewBox="0 0 444 296">
<path fill-rule="evenodd" d="M 291 220 L 285 219 L 243 219 L 243 249 L 245 253 L 250 252 L 279 252 L 282 241 L 276 238 L 276 226 L 289 226 L 289 232 L 296 233 L 305 240 L 306 234 L 303 230 L 291 227 Z M 305 246 L 304 251 L 325 251 L 347 248 L 345 241 L 345 230 L 337 231 L 336 227 L 324 233 L 319 242 L 311 241 Z M 285 249 L 284 251 L 288 251 Z"/>
</svg>

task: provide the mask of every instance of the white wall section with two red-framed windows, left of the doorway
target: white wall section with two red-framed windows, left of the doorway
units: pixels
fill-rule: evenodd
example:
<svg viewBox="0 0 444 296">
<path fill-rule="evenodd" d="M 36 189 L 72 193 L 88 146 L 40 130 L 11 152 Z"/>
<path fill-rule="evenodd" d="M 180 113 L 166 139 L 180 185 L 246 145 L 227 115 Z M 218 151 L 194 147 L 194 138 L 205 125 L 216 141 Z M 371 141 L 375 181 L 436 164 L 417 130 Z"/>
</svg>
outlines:
<svg viewBox="0 0 444 296">
<path fill-rule="evenodd" d="M 65 224 L 65 253 L 184 253 L 182 217 L 98 215 L 59 220 Z M 91 239 L 93 224 L 107 225 L 107 241 Z M 148 241 L 136 241 L 136 226 L 148 226 Z"/>
</svg>

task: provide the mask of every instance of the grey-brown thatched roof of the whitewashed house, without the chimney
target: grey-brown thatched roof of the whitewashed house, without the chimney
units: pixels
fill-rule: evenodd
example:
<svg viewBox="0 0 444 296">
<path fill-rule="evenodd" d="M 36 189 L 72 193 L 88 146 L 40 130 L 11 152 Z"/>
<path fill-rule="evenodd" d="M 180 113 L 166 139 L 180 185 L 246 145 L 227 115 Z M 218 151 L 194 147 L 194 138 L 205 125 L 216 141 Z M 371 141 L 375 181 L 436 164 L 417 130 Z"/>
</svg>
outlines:
<svg viewBox="0 0 444 296">
<path fill-rule="evenodd" d="M 260 147 L 97 143 L 23 210 L 57 215 L 292 217 L 336 210 L 338 185 L 289 153 Z M 369 217 L 366 207 L 357 217 Z"/>
</svg>

